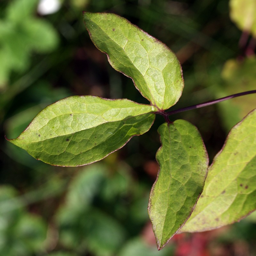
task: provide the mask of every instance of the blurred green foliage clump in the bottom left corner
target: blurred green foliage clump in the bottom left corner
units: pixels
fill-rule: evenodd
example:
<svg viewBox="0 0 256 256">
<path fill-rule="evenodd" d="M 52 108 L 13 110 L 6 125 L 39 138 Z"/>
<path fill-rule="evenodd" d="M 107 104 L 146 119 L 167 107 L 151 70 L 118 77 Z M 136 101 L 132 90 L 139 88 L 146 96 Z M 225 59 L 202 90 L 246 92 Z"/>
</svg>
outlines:
<svg viewBox="0 0 256 256">
<path fill-rule="evenodd" d="M 0 253 L 14 256 L 40 252 L 47 231 L 44 220 L 22 207 L 22 199 L 11 186 L 0 188 L 0 207 Z"/>
</svg>

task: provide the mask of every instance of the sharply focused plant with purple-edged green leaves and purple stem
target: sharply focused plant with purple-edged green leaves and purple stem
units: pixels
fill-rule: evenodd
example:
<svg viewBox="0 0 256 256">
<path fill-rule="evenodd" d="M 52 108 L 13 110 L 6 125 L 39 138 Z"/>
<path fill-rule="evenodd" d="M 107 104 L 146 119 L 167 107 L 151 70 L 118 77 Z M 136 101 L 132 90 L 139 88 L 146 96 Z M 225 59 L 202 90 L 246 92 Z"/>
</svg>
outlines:
<svg viewBox="0 0 256 256">
<path fill-rule="evenodd" d="M 71 96 L 44 108 L 18 138 L 9 141 L 45 163 L 79 166 L 99 161 L 133 136 L 147 132 L 159 114 L 165 123 L 158 128 L 159 172 L 148 204 L 158 249 L 178 231 L 219 228 L 254 211 L 256 109 L 232 128 L 210 167 L 197 128 L 185 120 L 171 122 L 169 116 L 256 91 L 167 111 L 179 100 L 184 86 L 175 54 L 118 15 L 84 12 L 84 22 L 110 65 L 132 78 L 149 104 Z"/>
</svg>

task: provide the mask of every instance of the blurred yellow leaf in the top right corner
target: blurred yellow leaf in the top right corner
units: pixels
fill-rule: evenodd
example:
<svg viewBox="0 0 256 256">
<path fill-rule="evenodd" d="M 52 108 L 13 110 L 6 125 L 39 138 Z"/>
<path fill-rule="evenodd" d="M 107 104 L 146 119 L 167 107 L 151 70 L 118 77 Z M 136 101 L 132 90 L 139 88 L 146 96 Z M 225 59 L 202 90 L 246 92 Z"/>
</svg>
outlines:
<svg viewBox="0 0 256 256">
<path fill-rule="evenodd" d="M 256 1 L 230 0 L 230 18 L 241 30 L 256 36 Z"/>
</svg>

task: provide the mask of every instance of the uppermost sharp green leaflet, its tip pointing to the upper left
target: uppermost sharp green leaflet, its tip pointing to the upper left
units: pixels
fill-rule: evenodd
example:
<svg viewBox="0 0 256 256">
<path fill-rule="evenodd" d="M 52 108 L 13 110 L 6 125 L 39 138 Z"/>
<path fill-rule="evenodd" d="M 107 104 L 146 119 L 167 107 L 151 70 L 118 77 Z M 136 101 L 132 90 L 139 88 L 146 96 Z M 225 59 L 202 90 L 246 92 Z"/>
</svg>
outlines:
<svg viewBox="0 0 256 256">
<path fill-rule="evenodd" d="M 159 109 L 180 98 L 184 86 L 175 54 L 128 20 L 111 13 L 84 12 L 85 26 L 113 68 L 131 77 L 140 93 Z"/>
</svg>

